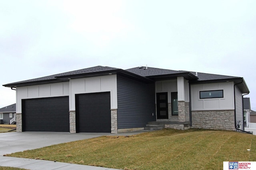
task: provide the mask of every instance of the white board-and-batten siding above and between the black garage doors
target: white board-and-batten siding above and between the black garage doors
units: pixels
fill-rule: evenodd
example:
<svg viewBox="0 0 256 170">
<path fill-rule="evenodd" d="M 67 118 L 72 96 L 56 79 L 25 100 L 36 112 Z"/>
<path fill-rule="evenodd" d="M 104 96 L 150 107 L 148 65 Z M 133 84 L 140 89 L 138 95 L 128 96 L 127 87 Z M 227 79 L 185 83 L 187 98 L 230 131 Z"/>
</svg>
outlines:
<svg viewBox="0 0 256 170">
<path fill-rule="evenodd" d="M 110 92 L 111 109 L 117 109 L 116 75 L 71 79 L 69 82 L 16 88 L 16 112 L 22 111 L 22 99 L 69 96 L 69 109 L 75 110 L 75 95 Z"/>
</svg>

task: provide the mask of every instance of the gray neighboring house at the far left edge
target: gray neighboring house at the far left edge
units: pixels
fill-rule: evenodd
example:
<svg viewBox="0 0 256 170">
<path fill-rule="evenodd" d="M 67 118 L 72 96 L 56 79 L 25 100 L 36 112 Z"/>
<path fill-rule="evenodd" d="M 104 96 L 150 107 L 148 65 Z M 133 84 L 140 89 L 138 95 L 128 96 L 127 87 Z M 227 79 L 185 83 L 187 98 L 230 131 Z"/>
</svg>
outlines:
<svg viewBox="0 0 256 170">
<path fill-rule="evenodd" d="M 12 120 L 12 122 L 10 122 Z M 16 104 L 0 109 L 0 124 L 11 124 L 16 122 Z"/>
</svg>

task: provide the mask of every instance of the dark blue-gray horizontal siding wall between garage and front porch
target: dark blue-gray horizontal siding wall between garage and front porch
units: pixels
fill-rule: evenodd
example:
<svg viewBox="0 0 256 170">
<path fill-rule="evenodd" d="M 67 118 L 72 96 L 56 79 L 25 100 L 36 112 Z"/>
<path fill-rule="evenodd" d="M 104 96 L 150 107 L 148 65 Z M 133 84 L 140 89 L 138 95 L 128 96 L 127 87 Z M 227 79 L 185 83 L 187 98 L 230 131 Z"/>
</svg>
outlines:
<svg viewBox="0 0 256 170">
<path fill-rule="evenodd" d="M 148 121 L 156 120 L 154 89 L 154 82 L 117 75 L 118 129 L 145 127 Z"/>
</svg>

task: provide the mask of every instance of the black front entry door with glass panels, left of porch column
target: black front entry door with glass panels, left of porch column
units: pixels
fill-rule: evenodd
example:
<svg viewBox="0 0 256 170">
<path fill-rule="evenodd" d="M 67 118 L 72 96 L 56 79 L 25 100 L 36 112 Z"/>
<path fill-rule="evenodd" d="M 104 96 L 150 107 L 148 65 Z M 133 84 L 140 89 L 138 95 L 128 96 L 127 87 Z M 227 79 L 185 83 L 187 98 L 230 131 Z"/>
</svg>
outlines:
<svg viewBox="0 0 256 170">
<path fill-rule="evenodd" d="M 156 93 L 157 119 L 168 119 L 168 93 Z"/>
</svg>

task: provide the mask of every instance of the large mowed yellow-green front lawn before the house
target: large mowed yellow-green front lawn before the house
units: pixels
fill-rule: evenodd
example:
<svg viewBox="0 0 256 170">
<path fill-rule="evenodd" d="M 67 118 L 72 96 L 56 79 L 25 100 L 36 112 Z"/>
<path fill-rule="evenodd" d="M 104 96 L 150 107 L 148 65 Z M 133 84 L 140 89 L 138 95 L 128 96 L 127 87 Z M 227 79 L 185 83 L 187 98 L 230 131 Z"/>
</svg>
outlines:
<svg viewBox="0 0 256 170">
<path fill-rule="evenodd" d="M 247 149 L 250 149 L 248 151 Z M 223 161 L 255 161 L 256 136 L 234 131 L 163 129 L 102 136 L 8 154 L 126 170 L 215 170 Z"/>
</svg>

